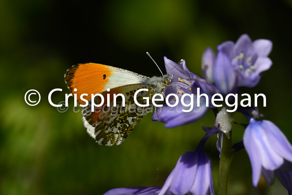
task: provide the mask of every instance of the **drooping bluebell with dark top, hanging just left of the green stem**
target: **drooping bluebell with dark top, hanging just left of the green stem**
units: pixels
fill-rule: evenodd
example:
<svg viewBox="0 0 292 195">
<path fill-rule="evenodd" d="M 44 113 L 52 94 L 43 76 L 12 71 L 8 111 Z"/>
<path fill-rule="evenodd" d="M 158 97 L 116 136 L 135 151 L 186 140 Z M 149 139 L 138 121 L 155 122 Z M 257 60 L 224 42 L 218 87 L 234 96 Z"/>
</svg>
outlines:
<svg viewBox="0 0 292 195">
<path fill-rule="evenodd" d="M 214 195 L 212 165 L 203 151 L 186 152 L 178 159 L 175 168 L 158 195 Z"/>
</svg>

